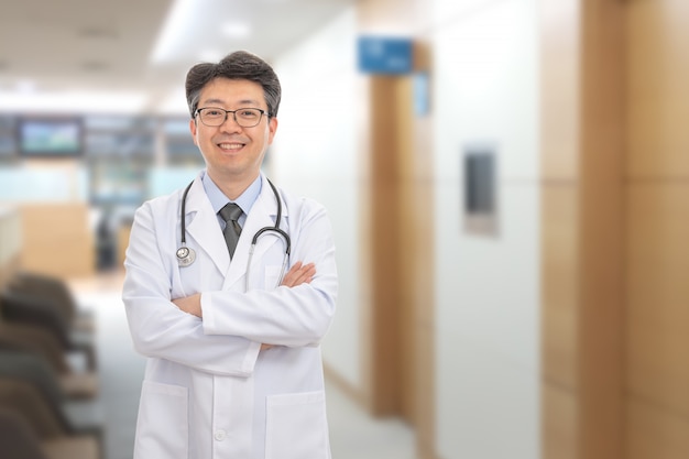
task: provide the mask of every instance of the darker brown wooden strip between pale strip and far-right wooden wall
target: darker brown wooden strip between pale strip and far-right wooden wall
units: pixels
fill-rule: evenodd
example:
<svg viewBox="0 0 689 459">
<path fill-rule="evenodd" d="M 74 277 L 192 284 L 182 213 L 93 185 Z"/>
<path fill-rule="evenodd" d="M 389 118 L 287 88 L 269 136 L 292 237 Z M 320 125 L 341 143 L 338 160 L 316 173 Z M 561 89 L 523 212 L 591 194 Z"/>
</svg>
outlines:
<svg viewBox="0 0 689 459">
<path fill-rule="evenodd" d="M 624 3 L 582 0 L 579 450 L 624 456 Z"/>
</svg>

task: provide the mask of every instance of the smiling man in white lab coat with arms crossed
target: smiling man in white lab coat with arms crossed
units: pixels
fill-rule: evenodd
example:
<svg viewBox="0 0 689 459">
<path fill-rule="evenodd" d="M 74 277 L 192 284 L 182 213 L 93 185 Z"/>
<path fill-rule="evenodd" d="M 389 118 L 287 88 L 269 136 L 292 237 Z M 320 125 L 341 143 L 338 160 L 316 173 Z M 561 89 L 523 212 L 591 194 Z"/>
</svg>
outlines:
<svg viewBox="0 0 689 459">
<path fill-rule="evenodd" d="M 134 458 L 330 458 L 319 343 L 335 247 L 324 207 L 261 173 L 280 83 L 237 52 L 192 67 L 186 95 L 206 170 L 136 210 L 124 261 L 129 326 L 147 357 Z M 233 255 L 218 216 L 230 201 L 242 210 Z"/>
</svg>

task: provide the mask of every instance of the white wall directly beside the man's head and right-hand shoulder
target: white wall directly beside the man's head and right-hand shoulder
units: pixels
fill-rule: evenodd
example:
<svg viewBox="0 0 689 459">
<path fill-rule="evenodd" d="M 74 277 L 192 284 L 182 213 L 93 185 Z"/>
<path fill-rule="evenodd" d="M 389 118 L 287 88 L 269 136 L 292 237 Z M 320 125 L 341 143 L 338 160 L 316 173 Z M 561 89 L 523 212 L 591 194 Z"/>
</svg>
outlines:
<svg viewBox="0 0 689 459">
<path fill-rule="evenodd" d="M 352 8 L 273 63 L 283 99 L 266 172 L 282 187 L 313 197 L 329 210 L 340 289 L 324 360 L 361 387 L 357 208 L 361 166 L 356 123 L 364 107 L 354 97 L 356 26 Z"/>
</svg>

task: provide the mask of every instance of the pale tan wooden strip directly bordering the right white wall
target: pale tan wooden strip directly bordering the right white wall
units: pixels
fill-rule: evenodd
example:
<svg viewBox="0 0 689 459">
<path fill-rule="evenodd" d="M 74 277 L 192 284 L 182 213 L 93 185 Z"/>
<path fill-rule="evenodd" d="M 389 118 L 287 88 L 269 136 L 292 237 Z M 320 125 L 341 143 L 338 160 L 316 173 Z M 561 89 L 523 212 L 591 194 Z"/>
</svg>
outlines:
<svg viewBox="0 0 689 459">
<path fill-rule="evenodd" d="M 542 457 L 577 459 L 579 1 L 540 2 Z"/>
</svg>

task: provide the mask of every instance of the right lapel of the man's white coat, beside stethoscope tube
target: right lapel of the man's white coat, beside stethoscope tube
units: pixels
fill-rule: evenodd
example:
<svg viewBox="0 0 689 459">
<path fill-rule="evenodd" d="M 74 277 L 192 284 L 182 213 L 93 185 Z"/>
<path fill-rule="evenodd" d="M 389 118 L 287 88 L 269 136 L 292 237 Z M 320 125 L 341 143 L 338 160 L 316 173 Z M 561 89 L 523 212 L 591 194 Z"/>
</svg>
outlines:
<svg viewBox="0 0 689 459">
<path fill-rule="evenodd" d="M 249 249 L 251 248 L 251 240 L 254 234 L 261 230 L 261 228 L 273 227 L 275 225 L 275 217 L 277 215 L 277 205 L 275 204 L 275 196 L 273 195 L 273 190 L 269 185 L 265 177 L 263 177 L 263 183 L 261 186 L 261 194 L 259 195 L 256 201 L 251 207 L 249 215 L 247 216 L 247 221 L 244 222 L 244 227 L 242 228 L 241 237 L 239 238 L 239 242 L 237 243 L 237 250 L 234 251 L 234 259 L 230 264 L 230 271 L 228 272 L 228 276 L 226 278 L 225 285 L 226 287 L 234 285 L 238 281 L 244 277 L 244 273 L 247 272 L 247 262 L 249 261 Z M 283 218 L 285 215 L 285 209 L 283 206 Z M 259 238 L 256 247 L 253 252 L 252 265 L 255 265 L 261 260 L 263 253 L 276 242 L 276 238 Z M 249 269 L 253 269 L 250 266 Z M 258 273 L 252 271 L 252 276 L 259 275 L 262 273 Z"/>
</svg>

